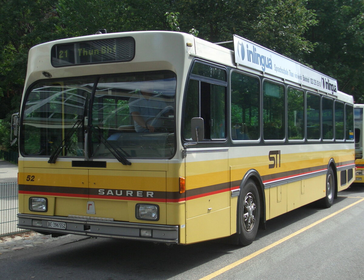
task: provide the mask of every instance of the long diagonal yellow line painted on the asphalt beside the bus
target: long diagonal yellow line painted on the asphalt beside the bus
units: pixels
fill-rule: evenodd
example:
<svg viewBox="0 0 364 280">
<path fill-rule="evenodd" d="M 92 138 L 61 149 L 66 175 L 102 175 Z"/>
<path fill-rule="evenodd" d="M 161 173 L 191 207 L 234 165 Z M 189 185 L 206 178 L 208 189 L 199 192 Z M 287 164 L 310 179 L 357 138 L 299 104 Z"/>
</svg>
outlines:
<svg viewBox="0 0 364 280">
<path fill-rule="evenodd" d="M 294 236 L 296 236 L 296 235 L 298 235 L 298 234 L 312 228 L 313 226 L 318 225 L 319 223 L 321 223 L 321 222 L 335 216 L 336 214 L 339 214 L 339 213 L 347 210 L 348 208 L 350 208 L 350 207 L 352 207 L 352 206 L 354 206 L 357 203 L 360 203 L 362 201 L 364 201 L 364 198 L 362 198 L 362 199 L 360 199 L 360 200 L 358 200 L 358 201 L 356 201 L 356 202 L 354 202 L 354 203 L 352 203 L 352 204 L 350 204 L 350 205 L 348 205 L 348 206 L 346 206 L 346 207 L 344 207 L 344 208 L 342 208 L 342 209 L 340 209 L 340 210 L 338 210 L 338 211 L 336 211 L 336 212 L 334 212 L 334 213 L 332 213 L 332 214 L 330 214 L 330 215 L 328 215 L 328 216 L 326 216 L 326 217 L 324 217 L 324 218 L 322 218 L 322 219 L 320 219 L 320 220 L 318 220 L 318 221 L 316 221 L 316 222 L 314 222 L 314 223 L 300 229 L 300 230 L 297 230 L 297 232 L 294 232 L 294 233 L 292 233 L 292 234 L 290 234 L 290 235 L 288 235 L 288 236 L 286 236 L 286 237 L 284 237 L 284 238 L 282 238 L 282 239 L 280 239 L 280 240 L 278 240 L 278 241 L 276 241 L 276 242 L 274 242 L 274 243 L 272 243 L 272 244 L 270 244 L 270 245 L 268 245 L 268 246 L 266 246 L 266 247 L 264 247 L 264 248 L 262 248 L 262 249 L 260 249 L 260 250 L 258 250 L 256 252 L 250 254 L 249 256 L 241 258 L 240 260 L 238 260 L 238 261 L 236 261 L 236 262 L 234 262 L 232 264 L 229 264 L 226 267 L 223 267 L 223 268 L 219 269 L 218 271 L 215 271 L 215 272 L 213 272 L 213 273 L 211 273 L 211 274 L 209 274 L 209 275 L 207 275 L 207 276 L 205 276 L 205 277 L 203 277 L 203 278 L 201 278 L 199 280 L 213 279 L 214 277 L 216 277 L 216 276 L 218 276 L 218 275 L 220 275 L 220 274 L 222 274 L 222 273 L 224 273 L 224 272 L 226 272 L 226 271 L 228 271 L 228 270 L 230 270 L 230 269 L 244 263 L 245 261 L 250 260 L 251 258 L 253 258 L 255 256 L 258 256 L 261 253 L 264 253 L 265 251 L 267 251 L 267 250 L 281 244 L 282 242 L 284 242 L 284 241 L 286 241 L 286 240 L 288 240 L 288 239 L 290 239 L 290 238 L 292 238 L 292 237 L 294 237 Z"/>
</svg>

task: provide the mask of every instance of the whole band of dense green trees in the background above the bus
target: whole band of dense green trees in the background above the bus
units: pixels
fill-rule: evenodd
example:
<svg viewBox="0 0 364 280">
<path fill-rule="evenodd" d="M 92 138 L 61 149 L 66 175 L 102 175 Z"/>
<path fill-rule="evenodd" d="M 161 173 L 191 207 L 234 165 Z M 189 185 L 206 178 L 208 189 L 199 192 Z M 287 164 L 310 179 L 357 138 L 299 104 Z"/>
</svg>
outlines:
<svg viewBox="0 0 364 280">
<path fill-rule="evenodd" d="M 364 0 L 0 3 L 0 119 L 19 112 L 29 48 L 50 40 L 91 35 L 102 28 L 107 32 L 182 31 L 211 42 L 229 41 L 237 34 L 331 75 L 340 90 L 364 102 Z"/>
</svg>

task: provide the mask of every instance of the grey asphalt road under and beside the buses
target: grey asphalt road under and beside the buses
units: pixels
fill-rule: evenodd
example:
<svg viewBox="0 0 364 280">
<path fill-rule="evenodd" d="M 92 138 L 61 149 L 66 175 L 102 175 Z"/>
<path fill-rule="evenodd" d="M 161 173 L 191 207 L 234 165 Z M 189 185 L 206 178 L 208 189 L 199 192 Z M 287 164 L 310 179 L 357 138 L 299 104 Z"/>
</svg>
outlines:
<svg viewBox="0 0 364 280">
<path fill-rule="evenodd" d="M 364 279 L 364 187 L 334 203 L 274 218 L 246 247 L 60 238 L 0 255 L 0 279 Z"/>
</svg>

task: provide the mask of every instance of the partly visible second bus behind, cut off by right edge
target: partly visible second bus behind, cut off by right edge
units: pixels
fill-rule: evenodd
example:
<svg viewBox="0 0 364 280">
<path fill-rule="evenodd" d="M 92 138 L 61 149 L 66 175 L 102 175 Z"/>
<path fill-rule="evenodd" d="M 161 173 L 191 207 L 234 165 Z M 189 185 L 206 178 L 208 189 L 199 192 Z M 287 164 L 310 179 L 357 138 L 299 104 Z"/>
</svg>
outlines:
<svg viewBox="0 0 364 280">
<path fill-rule="evenodd" d="M 355 135 L 355 180 L 359 185 L 364 182 L 363 158 L 363 108 L 364 104 L 354 104 L 354 135 Z"/>
</svg>

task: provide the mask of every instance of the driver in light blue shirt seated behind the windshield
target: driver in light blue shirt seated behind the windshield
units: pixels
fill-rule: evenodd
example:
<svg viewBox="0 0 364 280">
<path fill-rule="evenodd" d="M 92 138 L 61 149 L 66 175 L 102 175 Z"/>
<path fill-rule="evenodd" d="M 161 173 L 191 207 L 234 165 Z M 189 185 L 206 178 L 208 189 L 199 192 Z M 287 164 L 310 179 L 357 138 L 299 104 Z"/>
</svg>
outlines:
<svg viewBox="0 0 364 280">
<path fill-rule="evenodd" d="M 166 107 L 166 102 L 154 93 L 136 90 L 129 99 L 129 112 L 134 120 L 136 132 L 154 132 L 161 127 L 162 119 L 155 119 Z"/>
</svg>

